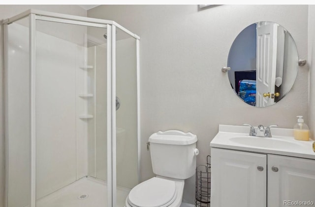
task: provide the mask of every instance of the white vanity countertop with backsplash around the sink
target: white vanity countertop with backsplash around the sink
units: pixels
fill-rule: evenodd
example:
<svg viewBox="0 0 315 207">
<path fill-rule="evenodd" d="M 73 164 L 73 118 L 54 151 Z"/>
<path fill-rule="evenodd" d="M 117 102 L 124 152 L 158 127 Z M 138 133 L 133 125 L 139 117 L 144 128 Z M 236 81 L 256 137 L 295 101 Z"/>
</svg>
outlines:
<svg viewBox="0 0 315 207">
<path fill-rule="evenodd" d="M 255 128 L 255 130 L 257 131 L 257 128 Z M 293 129 L 271 128 L 272 137 L 249 136 L 249 131 L 250 127 L 246 126 L 219 125 L 219 132 L 210 142 L 210 146 L 255 153 L 315 159 L 315 152 L 313 152 L 314 140 L 295 140 L 293 137 Z M 233 139 L 235 140 L 237 138 L 252 139 L 254 143 L 259 143 L 260 141 L 262 143 L 259 146 L 252 146 L 251 143 L 241 144 L 233 141 Z M 268 144 L 269 140 L 271 141 L 270 144 Z M 274 145 L 273 142 L 276 144 Z M 280 146 L 279 143 L 284 143 L 284 145 Z"/>
</svg>

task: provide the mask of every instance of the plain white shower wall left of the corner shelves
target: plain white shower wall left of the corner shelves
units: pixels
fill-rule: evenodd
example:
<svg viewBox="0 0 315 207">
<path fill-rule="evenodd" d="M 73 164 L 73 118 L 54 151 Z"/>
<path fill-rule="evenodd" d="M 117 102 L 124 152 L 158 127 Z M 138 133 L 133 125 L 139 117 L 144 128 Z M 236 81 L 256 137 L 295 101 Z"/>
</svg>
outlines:
<svg viewBox="0 0 315 207">
<path fill-rule="evenodd" d="M 78 118 L 85 105 L 77 97 L 84 54 L 75 43 L 36 32 L 37 199 L 87 175 L 87 121 Z"/>
</svg>

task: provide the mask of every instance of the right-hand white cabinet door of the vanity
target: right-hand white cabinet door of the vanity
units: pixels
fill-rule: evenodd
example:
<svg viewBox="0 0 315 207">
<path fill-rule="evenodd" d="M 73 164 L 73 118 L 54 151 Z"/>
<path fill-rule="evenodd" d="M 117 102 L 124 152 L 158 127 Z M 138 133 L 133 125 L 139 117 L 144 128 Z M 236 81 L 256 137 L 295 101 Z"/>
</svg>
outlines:
<svg viewBox="0 0 315 207">
<path fill-rule="evenodd" d="M 268 207 L 288 206 L 285 201 L 315 203 L 315 160 L 268 155 L 267 177 Z"/>
</svg>

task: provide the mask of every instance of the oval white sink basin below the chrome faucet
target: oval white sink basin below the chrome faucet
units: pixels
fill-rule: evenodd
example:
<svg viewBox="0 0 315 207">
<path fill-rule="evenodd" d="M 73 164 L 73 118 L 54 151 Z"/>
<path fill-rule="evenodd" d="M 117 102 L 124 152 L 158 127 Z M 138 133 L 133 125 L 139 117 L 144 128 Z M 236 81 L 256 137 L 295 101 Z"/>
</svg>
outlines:
<svg viewBox="0 0 315 207">
<path fill-rule="evenodd" d="M 296 148 L 299 144 L 289 142 L 289 140 L 275 139 L 273 137 L 231 137 L 231 142 L 260 148 L 288 149 Z"/>
</svg>

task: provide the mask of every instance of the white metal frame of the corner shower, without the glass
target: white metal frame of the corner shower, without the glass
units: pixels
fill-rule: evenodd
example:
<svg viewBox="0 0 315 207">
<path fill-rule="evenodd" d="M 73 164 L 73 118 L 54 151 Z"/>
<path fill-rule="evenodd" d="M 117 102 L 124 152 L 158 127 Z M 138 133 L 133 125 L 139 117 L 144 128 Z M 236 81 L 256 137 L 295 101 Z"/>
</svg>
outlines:
<svg viewBox="0 0 315 207">
<path fill-rule="evenodd" d="M 31 100 L 31 206 L 36 206 L 36 122 L 35 122 L 35 69 L 36 69 L 36 20 L 107 28 L 107 207 L 116 207 L 116 28 L 136 39 L 137 80 L 137 175 L 140 182 L 140 37 L 114 21 L 30 9 L 2 21 L 4 26 L 4 69 L 5 69 L 5 207 L 8 205 L 8 25 L 29 17 L 29 71 Z M 111 163 L 111 164 L 109 164 Z"/>
</svg>

